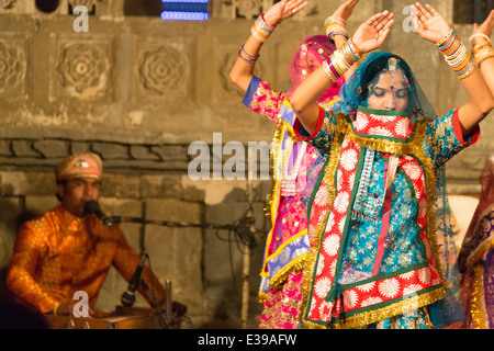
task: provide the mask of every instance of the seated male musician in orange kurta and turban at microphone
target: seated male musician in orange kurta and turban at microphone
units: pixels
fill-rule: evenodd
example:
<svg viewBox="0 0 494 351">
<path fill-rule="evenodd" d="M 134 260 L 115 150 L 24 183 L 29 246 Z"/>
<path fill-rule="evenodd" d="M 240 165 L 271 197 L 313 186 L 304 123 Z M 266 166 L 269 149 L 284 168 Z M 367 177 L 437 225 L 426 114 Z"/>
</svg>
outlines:
<svg viewBox="0 0 494 351">
<path fill-rule="evenodd" d="M 131 281 L 141 262 L 117 224 L 109 229 L 85 213 L 86 204 L 99 199 L 102 173 L 102 161 L 94 154 L 61 160 L 55 170 L 60 204 L 20 228 L 7 286 L 45 314 L 70 315 L 78 291 L 88 294 L 92 312 L 110 265 Z M 142 279 L 164 306 L 166 291 L 147 265 Z M 153 306 L 143 284 L 138 291 Z M 186 310 L 173 304 L 178 315 Z"/>
</svg>

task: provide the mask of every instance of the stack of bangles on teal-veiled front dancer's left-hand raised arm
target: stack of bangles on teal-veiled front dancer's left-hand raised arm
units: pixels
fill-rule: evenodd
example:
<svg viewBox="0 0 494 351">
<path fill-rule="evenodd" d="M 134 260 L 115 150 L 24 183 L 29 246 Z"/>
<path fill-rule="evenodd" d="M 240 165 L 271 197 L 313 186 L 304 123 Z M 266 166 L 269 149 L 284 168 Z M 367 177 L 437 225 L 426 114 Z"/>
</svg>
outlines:
<svg viewBox="0 0 494 351">
<path fill-rule="evenodd" d="M 360 58 L 361 53 L 350 38 L 341 45 L 338 50 L 333 53 L 330 57 L 323 61 L 323 68 L 327 78 L 334 82 L 345 75 L 345 72 Z"/>
</svg>

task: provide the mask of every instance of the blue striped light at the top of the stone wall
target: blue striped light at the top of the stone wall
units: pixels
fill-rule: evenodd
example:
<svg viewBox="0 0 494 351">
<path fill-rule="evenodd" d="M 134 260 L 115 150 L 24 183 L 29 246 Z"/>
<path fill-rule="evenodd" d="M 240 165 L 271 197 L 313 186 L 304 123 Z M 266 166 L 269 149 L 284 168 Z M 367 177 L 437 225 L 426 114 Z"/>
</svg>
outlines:
<svg viewBox="0 0 494 351">
<path fill-rule="evenodd" d="M 161 19 L 170 21 L 206 21 L 209 0 L 161 0 Z"/>
</svg>

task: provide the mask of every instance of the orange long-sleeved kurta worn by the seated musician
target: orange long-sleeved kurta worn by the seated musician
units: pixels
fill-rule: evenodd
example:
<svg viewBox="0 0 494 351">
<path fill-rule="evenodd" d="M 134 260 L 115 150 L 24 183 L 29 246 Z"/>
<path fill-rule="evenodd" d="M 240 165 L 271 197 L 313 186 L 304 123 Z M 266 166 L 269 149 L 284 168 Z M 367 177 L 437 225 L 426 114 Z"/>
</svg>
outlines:
<svg viewBox="0 0 494 351">
<path fill-rule="evenodd" d="M 130 281 L 139 260 L 117 225 L 110 230 L 94 216 L 82 219 L 58 205 L 21 227 L 7 286 L 43 313 L 74 302 L 77 291 L 88 294 L 93 308 L 110 265 Z M 165 298 L 165 288 L 147 267 L 142 278 L 158 301 Z M 150 301 L 142 286 L 139 292 Z"/>
</svg>

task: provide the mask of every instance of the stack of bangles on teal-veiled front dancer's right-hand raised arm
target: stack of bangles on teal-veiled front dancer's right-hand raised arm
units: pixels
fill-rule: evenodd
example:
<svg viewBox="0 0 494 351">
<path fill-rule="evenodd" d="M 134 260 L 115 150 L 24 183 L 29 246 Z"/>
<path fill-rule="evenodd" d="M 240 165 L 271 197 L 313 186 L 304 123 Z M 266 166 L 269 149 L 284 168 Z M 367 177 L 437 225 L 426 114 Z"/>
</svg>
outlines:
<svg viewBox="0 0 494 351">
<path fill-rule="evenodd" d="M 451 36 L 449 39 L 448 37 Z M 451 30 L 446 39 L 436 44 L 438 49 L 445 55 L 445 59 L 459 79 L 464 79 L 472 72 L 475 65 L 472 56 L 467 50 L 461 39 Z"/>
</svg>

